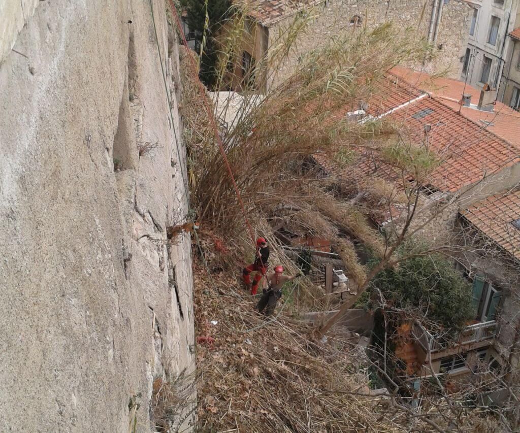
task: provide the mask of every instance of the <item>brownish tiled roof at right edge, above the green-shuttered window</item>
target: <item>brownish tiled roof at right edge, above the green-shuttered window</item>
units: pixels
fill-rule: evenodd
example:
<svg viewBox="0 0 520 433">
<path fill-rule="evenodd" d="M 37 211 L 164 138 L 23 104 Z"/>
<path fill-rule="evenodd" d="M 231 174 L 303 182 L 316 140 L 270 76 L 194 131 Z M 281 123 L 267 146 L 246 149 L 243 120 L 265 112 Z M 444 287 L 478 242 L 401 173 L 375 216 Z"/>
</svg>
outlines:
<svg viewBox="0 0 520 433">
<path fill-rule="evenodd" d="M 461 214 L 505 251 L 520 258 L 520 190 L 491 195 L 461 211 Z M 520 222 L 520 221 L 519 221 Z"/>
</svg>

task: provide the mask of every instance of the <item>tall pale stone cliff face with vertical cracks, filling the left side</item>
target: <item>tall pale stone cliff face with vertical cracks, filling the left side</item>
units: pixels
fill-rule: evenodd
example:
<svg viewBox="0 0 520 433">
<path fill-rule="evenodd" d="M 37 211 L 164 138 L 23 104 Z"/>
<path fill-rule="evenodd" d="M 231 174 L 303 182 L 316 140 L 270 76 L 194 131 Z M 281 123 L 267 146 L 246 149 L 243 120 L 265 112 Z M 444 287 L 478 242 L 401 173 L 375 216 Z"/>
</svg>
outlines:
<svg viewBox="0 0 520 433">
<path fill-rule="evenodd" d="M 154 379 L 194 369 L 176 36 L 162 0 L 25 18 L 0 59 L 0 430 L 150 431 Z"/>
</svg>

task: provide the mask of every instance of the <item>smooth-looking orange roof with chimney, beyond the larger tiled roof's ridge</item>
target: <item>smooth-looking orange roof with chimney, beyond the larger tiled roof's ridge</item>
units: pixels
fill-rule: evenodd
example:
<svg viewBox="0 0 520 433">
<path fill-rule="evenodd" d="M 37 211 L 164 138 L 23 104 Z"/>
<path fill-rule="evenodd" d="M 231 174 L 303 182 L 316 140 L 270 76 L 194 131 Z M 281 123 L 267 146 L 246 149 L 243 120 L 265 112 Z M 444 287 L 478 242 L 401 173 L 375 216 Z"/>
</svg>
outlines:
<svg viewBox="0 0 520 433">
<path fill-rule="evenodd" d="M 519 28 L 520 29 L 520 28 Z M 431 95 L 442 99 L 443 103 L 477 123 L 485 127 L 500 138 L 509 141 L 520 149 L 520 113 L 506 106 L 502 102 L 495 103 L 493 112 L 478 110 L 476 108 L 460 106 L 462 94 L 471 95 L 472 104 L 478 104 L 480 90 L 462 81 L 452 78 L 432 78 L 426 73 L 412 71 L 408 68 L 396 67 L 392 73 L 401 78 L 401 83 L 409 83 L 428 91 Z"/>
</svg>

